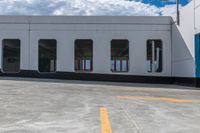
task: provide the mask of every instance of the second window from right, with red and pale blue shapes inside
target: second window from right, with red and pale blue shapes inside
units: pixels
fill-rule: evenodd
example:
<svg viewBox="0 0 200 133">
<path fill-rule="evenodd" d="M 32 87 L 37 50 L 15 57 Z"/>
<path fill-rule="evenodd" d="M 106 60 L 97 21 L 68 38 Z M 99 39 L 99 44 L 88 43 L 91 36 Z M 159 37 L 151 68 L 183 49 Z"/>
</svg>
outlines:
<svg viewBox="0 0 200 133">
<path fill-rule="evenodd" d="M 111 41 L 111 71 L 128 72 L 129 42 L 128 40 Z"/>
</svg>

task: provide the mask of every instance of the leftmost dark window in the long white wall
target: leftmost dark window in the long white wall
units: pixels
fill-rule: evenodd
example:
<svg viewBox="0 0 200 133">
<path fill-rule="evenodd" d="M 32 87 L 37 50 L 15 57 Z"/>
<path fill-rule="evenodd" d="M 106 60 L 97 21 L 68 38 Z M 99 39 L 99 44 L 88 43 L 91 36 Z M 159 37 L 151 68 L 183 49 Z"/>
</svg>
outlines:
<svg viewBox="0 0 200 133">
<path fill-rule="evenodd" d="M 20 40 L 3 40 L 3 72 L 17 73 L 20 71 Z"/>
</svg>

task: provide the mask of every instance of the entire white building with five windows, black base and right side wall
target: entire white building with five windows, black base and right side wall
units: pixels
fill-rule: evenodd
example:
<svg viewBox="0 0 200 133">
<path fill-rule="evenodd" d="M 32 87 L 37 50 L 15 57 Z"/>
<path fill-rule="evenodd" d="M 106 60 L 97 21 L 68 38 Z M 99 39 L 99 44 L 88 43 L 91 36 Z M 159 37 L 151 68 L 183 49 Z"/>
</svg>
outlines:
<svg viewBox="0 0 200 133">
<path fill-rule="evenodd" d="M 197 18 L 194 3 L 183 14 Z M 182 12 L 180 27 L 161 16 L 0 16 L 0 75 L 197 85 L 199 20 Z"/>
</svg>

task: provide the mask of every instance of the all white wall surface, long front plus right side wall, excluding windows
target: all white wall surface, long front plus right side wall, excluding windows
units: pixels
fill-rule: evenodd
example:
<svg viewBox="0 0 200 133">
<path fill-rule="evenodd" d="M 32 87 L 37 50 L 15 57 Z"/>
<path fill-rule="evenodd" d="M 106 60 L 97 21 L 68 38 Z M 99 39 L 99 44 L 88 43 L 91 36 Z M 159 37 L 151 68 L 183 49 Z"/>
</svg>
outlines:
<svg viewBox="0 0 200 133">
<path fill-rule="evenodd" d="M 1 16 L 0 41 L 20 39 L 21 70 L 38 70 L 38 40 L 56 39 L 57 71 L 74 72 L 74 41 L 92 39 L 93 73 L 111 74 L 110 41 L 128 39 L 130 71 L 120 74 L 195 77 L 194 34 L 200 31 L 199 4 L 200 0 L 193 0 L 182 8 L 180 26 L 171 25 L 169 17 Z M 148 39 L 163 41 L 162 73 L 146 71 Z M 0 58 L 0 68 L 1 62 Z"/>
</svg>

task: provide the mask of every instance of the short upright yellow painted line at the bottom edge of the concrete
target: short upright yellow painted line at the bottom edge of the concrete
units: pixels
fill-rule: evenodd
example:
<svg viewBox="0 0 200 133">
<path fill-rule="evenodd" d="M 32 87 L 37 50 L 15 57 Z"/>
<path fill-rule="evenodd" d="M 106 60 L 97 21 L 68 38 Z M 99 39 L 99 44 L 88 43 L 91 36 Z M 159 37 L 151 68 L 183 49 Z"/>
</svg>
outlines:
<svg viewBox="0 0 200 133">
<path fill-rule="evenodd" d="M 112 128 L 110 125 L 107 108 L 105 107 L 100 108 L 100 119 L 101 119 L 101 133 L 112 133 Z"/>
</svg>

